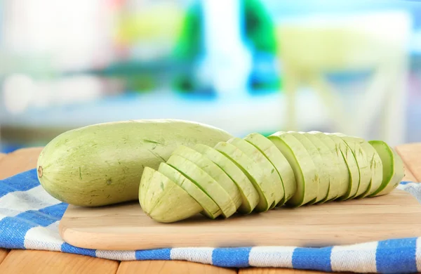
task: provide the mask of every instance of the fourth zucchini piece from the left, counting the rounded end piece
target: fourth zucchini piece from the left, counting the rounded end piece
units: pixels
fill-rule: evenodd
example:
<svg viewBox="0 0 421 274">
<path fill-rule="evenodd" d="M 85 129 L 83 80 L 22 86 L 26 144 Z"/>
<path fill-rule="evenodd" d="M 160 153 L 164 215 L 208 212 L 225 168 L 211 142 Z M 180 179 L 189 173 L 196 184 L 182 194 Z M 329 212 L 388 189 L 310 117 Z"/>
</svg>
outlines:
<svg viewBox="0 0 421 274">
<path fill-rule="evenodd" d="M 220 168 L 217 164 L 210 161 L 208 157 L 202 155 L 200 152 L 187 148 L 185 145 L 180 145 L 174 150 L 173 155 L 179 155 L 191 162 L 194 162 L 198 167 L 203 169 L 210 177 L 218 182 L 222 188 L 229 194 L 232 202 L 234 202 L 236 209 L 241 205 L 241 193 L 236 184 L 231 178 Z"/>
</svg>

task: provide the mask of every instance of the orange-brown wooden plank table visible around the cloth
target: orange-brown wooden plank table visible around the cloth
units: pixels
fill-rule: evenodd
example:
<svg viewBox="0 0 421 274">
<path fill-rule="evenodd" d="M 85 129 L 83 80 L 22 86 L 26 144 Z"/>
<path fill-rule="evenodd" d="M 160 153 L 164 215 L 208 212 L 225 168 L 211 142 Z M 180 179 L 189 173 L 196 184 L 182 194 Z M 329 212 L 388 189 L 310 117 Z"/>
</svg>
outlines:
<svg viewBox="0 0 421 274">
<path fill-rule="evenodd" d="M 404 181 L 421 181 L 421 143 L 396 148 L 406 164 Z M 0 154 L 0 179 L 36 167 L 41 148 L 17 150 Z M 320 273 L 281 268 L 231 269 L 187 261 L 112 261 L 62 252 L 0 249 L 0 273 L 66 273 L 66 274 L 128 274 L 128 273 Z"/>
</svg>

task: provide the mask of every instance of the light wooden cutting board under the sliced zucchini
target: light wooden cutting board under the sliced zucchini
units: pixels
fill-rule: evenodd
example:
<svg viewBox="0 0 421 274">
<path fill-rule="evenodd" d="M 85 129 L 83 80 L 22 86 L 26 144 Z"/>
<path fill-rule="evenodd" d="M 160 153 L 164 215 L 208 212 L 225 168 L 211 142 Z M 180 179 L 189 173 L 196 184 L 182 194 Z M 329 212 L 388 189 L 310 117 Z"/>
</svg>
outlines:
<svg viewBox="0 0 421 274">
<path fill-rule="evenodd" d="M 421 204 L 403 190 L 389 195 L 209 220 L 200 214 L 156 223 L 137 202 L 109 207 L 70 205 L 60 221 L 67 243 L 90 249 L 354 244 L 421 236 Z"/>
</svg>

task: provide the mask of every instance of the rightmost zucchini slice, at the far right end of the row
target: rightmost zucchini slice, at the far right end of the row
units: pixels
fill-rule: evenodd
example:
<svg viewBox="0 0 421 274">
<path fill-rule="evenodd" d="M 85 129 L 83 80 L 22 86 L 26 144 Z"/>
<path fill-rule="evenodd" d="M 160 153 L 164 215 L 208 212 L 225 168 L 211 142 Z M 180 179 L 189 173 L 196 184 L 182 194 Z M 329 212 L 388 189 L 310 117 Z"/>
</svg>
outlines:
<svg viewBox="0 0 421 274">
<path fill-rule="evenodd" d="M 405 176 L 405 169 L 401 157 L 383 141 L 368 141 L 375 148 L 382 159 L 382 184 L 370 197 L 387 195 Z"/>
</svg>

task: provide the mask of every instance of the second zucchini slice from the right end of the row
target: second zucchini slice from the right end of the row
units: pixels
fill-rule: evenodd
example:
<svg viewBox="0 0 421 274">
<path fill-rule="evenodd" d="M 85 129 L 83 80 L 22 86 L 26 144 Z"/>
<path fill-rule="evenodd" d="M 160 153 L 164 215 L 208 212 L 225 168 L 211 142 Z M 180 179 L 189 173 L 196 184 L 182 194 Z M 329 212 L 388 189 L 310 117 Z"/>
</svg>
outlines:
<svg viewBox="0 0 421 274">
<path fill-rule="evenodd" d="M 338 136 L 345 136 L 345 134 L 342 133 L 335 133 Z M 371 181 L 370 181 L 370 188 L 364 193 L 361 197 L 367 197 L 371 194 L 375 193 L 378 188 L 380 188 L 380 185 L 382 185 L 382 179 L 383 179 L 383 164 L 382 159 L 380 159 L 380 156 L 378 155 L 377 151 L 373 148 L 372 145 L 370 145 L 366 140 L 363 138 L 359 138 L 356 136 L 345 136 L 349 139 L 354 139 L 359 145 L 361 145 L 361 148 L 366 153 L 367 156 L 367 162 L 370 166 L 371 171 Z"/>
</svg>

